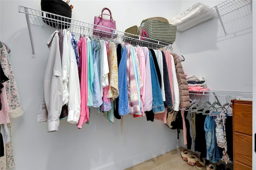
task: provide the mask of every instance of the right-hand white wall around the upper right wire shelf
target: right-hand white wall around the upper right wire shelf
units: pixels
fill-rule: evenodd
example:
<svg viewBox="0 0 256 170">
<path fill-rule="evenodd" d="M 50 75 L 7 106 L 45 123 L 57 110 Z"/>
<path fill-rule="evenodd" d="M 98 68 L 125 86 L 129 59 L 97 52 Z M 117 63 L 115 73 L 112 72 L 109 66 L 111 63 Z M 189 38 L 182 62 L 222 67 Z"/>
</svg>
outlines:
<svg viewBox="0 0 256 170">
<path fill-rule="evenodd" d="M 214 7 L 223 1 L 182 0 L 182 12 L 202 2 Z M 176 45 L 185 57 L 185 74 L 202 75 L 211 90 L 252 92 L 252 12 L 250 6 L 177 35 Z M 175 51 L 175 49 L 174 49 Z"/>
</svg>

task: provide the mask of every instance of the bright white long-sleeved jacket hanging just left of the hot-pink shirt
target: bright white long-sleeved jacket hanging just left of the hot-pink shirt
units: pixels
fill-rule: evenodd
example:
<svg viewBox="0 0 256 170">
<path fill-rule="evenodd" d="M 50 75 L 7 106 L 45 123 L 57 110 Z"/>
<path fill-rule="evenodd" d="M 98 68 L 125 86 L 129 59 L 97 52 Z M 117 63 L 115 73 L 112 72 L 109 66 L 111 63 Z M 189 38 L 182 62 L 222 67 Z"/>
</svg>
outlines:
<svg viewBox="0 0 256 170">
<path fill-rule="evenodd" d="M 72 34 L 67 32 L 68 38 L 68 54 L 70 61 L 70 71 L 69 71 L 69 80 L 68 80 L 68 123 L 78 123 L 80 118 L 80 81 L 78 77 L 78 67 L 76 63 L 76 54 L 71 43 Z"/>
</svg>

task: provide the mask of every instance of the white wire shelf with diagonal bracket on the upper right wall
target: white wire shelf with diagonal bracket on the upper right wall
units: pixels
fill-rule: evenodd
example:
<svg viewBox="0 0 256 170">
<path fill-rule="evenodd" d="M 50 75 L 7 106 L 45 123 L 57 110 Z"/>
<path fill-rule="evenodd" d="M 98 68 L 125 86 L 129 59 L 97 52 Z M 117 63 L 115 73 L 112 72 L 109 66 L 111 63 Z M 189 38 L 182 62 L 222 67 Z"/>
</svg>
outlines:
<svg viewBox="0 0 256 170">
<path fill-rule="evenodd" d="M 226 32 L 226 29 L 222 22 L 222 16 L 224 16 L 230 12 L 233 12 L 235 10 L 238 10 L 240 8 L 243 8 L 249 4 L 250 5 L 252 4 L 252 0 L 226 0 L 218 5 L 202 12 L 198 16 L 191 18 L 185 22 L 182 22 L 181 24 L 178 24 L 177 31 L 184 32 L 190 28 L 193 28 L 195 26 L 198 26 L 200 24 L 203 24 L 203 23 L 213 20 L 215 18 L 219 18 L 222 28 L 224 30 L 225 36 L 226 36 L 227 32 Z"/>
</svg>

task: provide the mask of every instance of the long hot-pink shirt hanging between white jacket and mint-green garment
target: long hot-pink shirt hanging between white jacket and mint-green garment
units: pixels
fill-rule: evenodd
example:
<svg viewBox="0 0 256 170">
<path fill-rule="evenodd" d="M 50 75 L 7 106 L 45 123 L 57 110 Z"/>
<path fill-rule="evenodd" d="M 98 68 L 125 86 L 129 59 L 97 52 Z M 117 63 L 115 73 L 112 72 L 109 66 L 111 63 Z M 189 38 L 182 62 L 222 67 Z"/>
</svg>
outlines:
<svg viewBox="0 0 256 170">
<path fill-rule="evenodd" d="M 87 106 L 88 101 L 88 68 L 87 68 L 87 50 L 86 50 L 86 38 L 81 37 L 78 42 L 78 51 L 81 58 L 79 65 L 81 70 L 81 81 L 80 81 L 80 93 L 81 93 L 81 111 L 80 119 L 76 125 L 78 128 L 82 128 L 82 125 L 90 120 L 89 118 L 89 107 Z"/>
</svg>

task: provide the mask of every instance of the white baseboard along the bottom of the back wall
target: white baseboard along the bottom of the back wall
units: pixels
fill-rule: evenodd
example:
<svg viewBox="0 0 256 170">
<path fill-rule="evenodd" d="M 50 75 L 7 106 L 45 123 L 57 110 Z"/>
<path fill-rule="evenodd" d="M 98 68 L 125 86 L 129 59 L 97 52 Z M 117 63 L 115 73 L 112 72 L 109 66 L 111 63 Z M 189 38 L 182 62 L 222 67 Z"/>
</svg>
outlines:
<svg viewBox="0 0 256 170">
<path fill-rule="evenodd" d="M 93 168 L 92 170 L 121 170 L 121 169 L 129 168 L 130 166 L 134 166 L 146 160 L 152 159 L 156 156 L 159 156 L 161 154 L 164 154 L 166 152 L 179 148 L 180 146 L 181 146 L 180 140 L 174 140 L 173 142 L 164 144 L 157 148 L 153 148 L 152 150 L 142 152 L 140 154 L 122 159 L 117 162 L 110 162 L 108 164 L 104 164 L 102 166 Z"/>
</svg>

